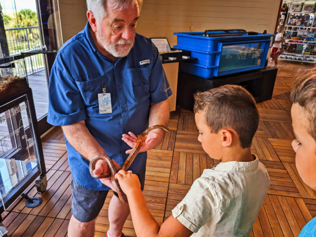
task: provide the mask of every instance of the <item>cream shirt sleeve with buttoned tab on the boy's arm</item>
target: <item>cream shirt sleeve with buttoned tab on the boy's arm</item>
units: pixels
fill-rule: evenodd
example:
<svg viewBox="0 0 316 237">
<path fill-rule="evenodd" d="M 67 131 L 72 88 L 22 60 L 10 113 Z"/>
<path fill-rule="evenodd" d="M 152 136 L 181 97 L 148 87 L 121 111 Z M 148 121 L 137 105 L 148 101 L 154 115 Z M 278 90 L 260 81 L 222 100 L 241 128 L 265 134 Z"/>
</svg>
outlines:
<svg viewBox="0 0 316 237">
<path fill-rule="evenodd" d="M 184 199 L 172 210 L 174 218 L 197 232 L 219 211 L 219 198 L 208 179 L 196 179 Z"/>
</svg>

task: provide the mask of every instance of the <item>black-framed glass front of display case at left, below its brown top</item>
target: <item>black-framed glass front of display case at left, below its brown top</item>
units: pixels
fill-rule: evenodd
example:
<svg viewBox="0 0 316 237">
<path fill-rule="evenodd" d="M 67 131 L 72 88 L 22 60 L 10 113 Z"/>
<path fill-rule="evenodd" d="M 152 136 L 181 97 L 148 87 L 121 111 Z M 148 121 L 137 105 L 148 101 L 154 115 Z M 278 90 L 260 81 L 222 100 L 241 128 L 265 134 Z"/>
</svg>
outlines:
<svg viewBox="0 0 316 237">
<path fill-rule="evenodd" d="M 46 169 L 30 88 L 0 101 L 0 212 Z M 45 191 L 46 181 L 38 191 Z"/>
</svg>

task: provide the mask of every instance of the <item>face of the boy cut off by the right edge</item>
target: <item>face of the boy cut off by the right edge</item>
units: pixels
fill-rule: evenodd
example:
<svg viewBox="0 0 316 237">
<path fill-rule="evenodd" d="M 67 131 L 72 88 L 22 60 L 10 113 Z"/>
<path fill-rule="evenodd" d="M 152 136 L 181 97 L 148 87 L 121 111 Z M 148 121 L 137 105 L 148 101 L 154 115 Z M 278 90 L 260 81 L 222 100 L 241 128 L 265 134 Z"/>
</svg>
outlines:
<svg viewBox="0 0 316 237">
<path fill-rule="evenodd" d="M 292 147 L 295 151 L 295 165 L 303 181 L 316 190 L 316 142 L 306 131 L 307 123 L 304 111 L 298 103 L 291 108 L 292 126 L 295 139 Z"/>
</svg>

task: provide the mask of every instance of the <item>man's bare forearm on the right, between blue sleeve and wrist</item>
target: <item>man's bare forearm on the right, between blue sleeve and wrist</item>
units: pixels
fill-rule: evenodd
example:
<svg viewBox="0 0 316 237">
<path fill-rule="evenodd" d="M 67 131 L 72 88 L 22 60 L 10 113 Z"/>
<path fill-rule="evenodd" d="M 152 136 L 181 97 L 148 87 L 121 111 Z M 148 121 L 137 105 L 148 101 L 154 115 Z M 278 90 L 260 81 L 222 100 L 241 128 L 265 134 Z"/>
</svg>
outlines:
<svg viewBox="0 0 316 237">
<path fill-rule="evenodd" d="M 157 124 L 167 126 L 169 116 L 170 112 L 167 100 L 152 104 L 149 111 L 149 127 Z"/>
</svg>

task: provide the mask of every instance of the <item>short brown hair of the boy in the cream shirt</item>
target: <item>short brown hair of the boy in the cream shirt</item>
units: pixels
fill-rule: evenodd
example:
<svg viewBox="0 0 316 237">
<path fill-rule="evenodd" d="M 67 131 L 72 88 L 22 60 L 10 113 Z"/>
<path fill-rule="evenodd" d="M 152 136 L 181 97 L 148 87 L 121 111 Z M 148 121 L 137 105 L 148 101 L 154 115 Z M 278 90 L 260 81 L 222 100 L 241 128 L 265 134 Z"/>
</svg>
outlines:
<svg viewBox="0 0 316 237">
<path fill-rule="evenodd" d="M 194 95 L 194 112 L 205 113 L 212 133 L 234 129 L 242 148 L 250 147 L 258 129 L 259 113 L 252 95 L 241 86 L 224 85 Z"/>
</svg>

